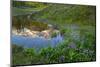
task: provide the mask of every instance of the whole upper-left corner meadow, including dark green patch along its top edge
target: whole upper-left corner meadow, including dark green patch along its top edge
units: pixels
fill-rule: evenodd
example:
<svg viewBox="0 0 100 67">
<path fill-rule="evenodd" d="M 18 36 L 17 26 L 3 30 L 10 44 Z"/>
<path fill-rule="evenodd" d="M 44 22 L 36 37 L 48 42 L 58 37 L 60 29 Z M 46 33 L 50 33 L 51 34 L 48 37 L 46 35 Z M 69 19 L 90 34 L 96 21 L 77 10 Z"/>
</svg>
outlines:
<svg viewBox="0 0 100 67">
<path fill-rule="evenodd" d="M 45 3 L 25 2 L 25 1 L 24 2 L 13 1 L 12 5 L 13 5 L 12 7 L 13 16 L 38 12 L 47 7 Z"/>
</svg>

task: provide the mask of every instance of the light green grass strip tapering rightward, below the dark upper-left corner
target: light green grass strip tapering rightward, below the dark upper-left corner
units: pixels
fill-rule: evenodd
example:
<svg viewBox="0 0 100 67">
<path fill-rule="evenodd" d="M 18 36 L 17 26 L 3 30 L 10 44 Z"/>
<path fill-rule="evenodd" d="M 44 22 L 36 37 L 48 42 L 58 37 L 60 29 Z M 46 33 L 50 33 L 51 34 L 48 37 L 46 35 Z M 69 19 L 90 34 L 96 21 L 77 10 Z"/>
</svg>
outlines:
<svg viewBox="0 0 100 67">
<path fill-rule="evenodd" d="M 12 15 L 17 16 L 17 15 L 26 15 L 30 13 L 35 13 L 42 11 L 43 9 L 47 8 L 48 6 L 43 6 L 43 7 L 38 7 L 38 8 L 18 8 L 18 7 L 12 7 Z"/>
</svg>

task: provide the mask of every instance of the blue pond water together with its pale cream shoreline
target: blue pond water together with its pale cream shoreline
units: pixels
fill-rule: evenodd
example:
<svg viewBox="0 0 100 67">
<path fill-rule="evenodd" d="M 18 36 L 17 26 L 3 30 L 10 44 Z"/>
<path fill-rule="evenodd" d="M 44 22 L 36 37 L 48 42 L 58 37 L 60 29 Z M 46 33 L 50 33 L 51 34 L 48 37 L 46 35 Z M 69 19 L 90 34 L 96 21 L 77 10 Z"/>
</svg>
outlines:
<svg viewBox="0 0 100 67">
<path fill-rule="evenodd" d="M 17 30 L 12 30 L 12 44 L 21 45 L 26 48 L 34 47 L 45 48 L 48 46 L 55 47 L 57 44 L 63 41 L 63 37 L 58 33 L 58 30 L 53 32 L 58 33 L 57 36 L 51 37 L 50 30 L 31 31 L 29 29 L 17 32 Z"/>
</svg>

